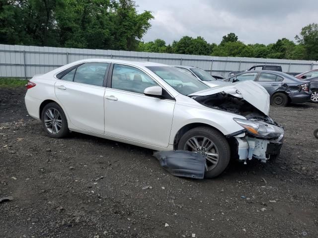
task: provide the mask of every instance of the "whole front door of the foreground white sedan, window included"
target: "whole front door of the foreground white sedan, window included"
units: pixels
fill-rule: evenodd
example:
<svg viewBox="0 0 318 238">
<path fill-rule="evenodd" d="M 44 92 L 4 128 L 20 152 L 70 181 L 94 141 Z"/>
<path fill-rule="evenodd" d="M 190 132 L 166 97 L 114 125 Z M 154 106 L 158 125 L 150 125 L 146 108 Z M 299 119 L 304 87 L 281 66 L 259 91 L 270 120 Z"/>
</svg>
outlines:
<svg viewBox="0 0 318 238">
<path fill-rule="evenodd" d="M 142 70 L 114 64 L 105 91 L 106 135 L 168 146 L 175 101 L 144 95 L 151 86 L 158 84 Z"/>
</svg>

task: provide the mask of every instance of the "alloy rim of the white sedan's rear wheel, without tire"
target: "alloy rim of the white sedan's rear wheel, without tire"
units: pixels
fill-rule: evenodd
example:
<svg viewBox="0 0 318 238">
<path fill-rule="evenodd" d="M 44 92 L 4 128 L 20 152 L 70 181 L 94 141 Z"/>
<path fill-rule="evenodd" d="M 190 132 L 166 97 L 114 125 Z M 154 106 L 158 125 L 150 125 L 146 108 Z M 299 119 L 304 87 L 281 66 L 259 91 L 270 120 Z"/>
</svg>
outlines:
<svg viewBox="0 0 318 238">
<path fill-rule="evenodd" d="M 44 114 L 44 124 L 51 134 L 58 134 L 62 129 L 62 117 L 55 108 L 49 108 Z"/>
</svg>

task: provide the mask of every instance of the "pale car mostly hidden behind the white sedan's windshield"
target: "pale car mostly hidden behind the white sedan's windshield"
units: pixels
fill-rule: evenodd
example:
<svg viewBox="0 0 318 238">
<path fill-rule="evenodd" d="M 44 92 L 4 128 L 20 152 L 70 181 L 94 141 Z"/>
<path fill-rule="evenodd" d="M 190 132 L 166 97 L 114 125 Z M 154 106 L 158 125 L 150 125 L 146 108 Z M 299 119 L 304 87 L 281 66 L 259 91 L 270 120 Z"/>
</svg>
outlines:
<svg viewBox="0 0 318 238">
<path fill-rule="evenodd" d="M 217 80 L 215 77 L 210 75 L 207 71 L 198 67 L 186 66 L 186 65 L 174 65 L 174 67 L 192 75 L 193 77 L 197 78 L 198 80 L 210 86 L 211 88 L 227 84 L 227 82 Z"/>
</svg>

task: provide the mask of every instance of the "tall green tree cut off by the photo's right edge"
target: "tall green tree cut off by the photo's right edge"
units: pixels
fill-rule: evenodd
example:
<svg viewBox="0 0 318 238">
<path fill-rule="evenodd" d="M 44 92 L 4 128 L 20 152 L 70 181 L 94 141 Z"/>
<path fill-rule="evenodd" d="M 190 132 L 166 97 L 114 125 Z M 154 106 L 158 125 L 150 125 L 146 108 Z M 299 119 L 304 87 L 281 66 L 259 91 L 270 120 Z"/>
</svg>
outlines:
<svg viewBox="0 0 318 238">
<path fill-rule="evenodd" d="M 318 24 L 312 23 L 303 27 L 295 39 L 304 46 L 307 60 L 318 60 Z"/>
</svg>

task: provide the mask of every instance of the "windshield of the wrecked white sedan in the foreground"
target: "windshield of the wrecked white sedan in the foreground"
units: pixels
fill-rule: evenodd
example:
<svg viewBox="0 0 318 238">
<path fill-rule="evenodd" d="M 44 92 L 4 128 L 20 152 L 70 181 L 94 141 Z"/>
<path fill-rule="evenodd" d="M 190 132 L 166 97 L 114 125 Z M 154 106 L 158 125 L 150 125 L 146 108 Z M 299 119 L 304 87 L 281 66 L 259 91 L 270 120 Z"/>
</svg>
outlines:
<svg viewBox="0 0 318 238">
<path fill-rule="evenodd" d="M 147 67 L 156 73 L 161 79 L 183 95 L 189 95 L 210 88 L 195 77 L 169 66 Z"/>
</svg>

